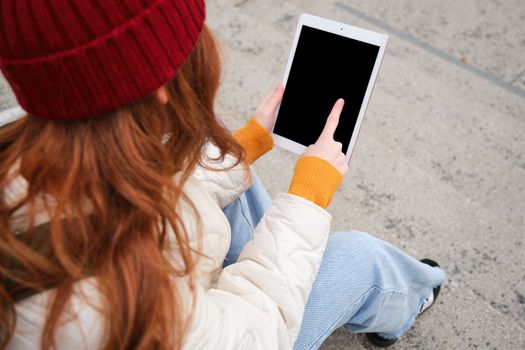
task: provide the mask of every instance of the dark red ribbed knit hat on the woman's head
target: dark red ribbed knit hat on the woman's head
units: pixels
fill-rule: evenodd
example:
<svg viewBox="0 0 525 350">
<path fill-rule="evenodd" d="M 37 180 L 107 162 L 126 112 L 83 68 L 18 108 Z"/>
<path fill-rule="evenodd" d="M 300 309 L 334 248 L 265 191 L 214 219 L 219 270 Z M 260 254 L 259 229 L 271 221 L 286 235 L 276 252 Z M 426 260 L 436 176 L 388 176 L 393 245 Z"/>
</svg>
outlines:
<svg viewBox="0 0 525 350">
<path fill-rule="evenodd" d="M 171 80 L 204 18 L 204 0 L 1 0 L 0 69 L 29 113 L 94 116 Z"/>
</svg>

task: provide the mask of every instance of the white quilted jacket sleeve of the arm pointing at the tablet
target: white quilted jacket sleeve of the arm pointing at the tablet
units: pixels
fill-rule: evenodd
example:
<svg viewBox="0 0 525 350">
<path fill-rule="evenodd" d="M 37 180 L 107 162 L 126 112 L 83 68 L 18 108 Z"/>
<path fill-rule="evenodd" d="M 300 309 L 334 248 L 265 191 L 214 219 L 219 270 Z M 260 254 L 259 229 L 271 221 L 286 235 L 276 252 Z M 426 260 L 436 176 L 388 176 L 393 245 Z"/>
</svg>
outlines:
<svg viewBox="0 0 525 350">
<path fill-rule="evenodd" d="M 223 270 L 215 289 L 200 296 L 197 313 L 202 314 L 196 319 L 215 320 L 196 326 L 208 341 L 214 339 L 208 346 L 292 348 L 330 222 L 328 212 L 301 197 L 281 193 L 274 199 L 238 262 Z"/>
</svg>

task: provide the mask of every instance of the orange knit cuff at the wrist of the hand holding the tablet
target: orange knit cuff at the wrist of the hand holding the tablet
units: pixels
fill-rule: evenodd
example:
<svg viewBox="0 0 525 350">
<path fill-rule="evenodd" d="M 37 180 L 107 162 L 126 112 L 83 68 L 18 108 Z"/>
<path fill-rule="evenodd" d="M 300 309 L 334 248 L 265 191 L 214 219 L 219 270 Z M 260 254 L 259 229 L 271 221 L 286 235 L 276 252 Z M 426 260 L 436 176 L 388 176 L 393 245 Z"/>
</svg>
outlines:
<svg viewBox="0 0 525 350">
<path fill-rule="evenodd" d="M 237 130 L 233 137 L 246 151 L 248 164 L 252 164 L 273 148 L 272 135 L 253 117 L 245 126 Z"/>
</svg>

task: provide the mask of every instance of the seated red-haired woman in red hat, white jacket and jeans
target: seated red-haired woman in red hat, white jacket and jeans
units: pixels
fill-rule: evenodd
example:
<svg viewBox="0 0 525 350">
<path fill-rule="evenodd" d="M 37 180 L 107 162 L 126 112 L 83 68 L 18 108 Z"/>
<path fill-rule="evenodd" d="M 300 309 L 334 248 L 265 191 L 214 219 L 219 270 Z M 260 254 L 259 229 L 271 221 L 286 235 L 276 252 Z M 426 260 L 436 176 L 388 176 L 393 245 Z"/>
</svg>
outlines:
<svg viewBox="0 0 525 350">
<path fill-rule="evenodd" d="M 343 101 L 270 203 L 249 165 L 283 87 L 232 137 L 204 17 L 202 0 L 0 2 L 28 113 L 0 131 L 2 348 L 305 349 L 342 325 L 388 345 L 432 304 L 431 262 L 328 235 Z"/>
</svg>

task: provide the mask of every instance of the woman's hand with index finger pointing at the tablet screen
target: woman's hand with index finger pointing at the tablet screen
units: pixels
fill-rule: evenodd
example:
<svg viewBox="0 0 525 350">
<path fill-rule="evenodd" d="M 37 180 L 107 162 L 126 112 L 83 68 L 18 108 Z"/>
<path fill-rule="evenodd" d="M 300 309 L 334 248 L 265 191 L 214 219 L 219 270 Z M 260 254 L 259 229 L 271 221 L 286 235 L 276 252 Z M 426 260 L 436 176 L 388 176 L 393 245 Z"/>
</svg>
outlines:
<svg viewBox="0 0 525 350">
<path fill-rule="evenodd" d="M 340 98 L 334 104 L 321 135 L 317 142 L 310 145 L 302 154 L 302 157 L 319 157 L 332 164 L 342 175 L 348 170 L 345 154 L 341 151 L 343 144 L 334 140 L 335 129 L 339 124 L 339 116 L 343 110 L 345 101 Z"/>
</svg>

